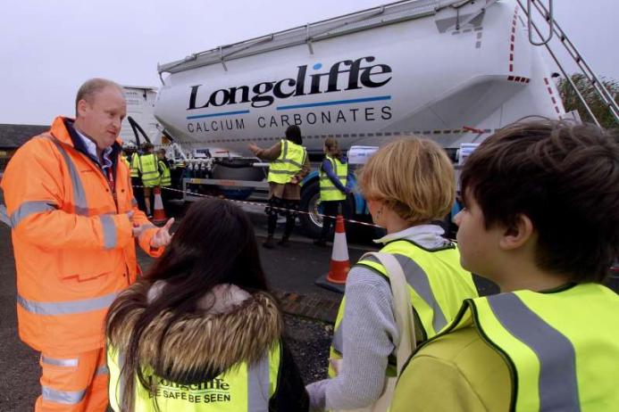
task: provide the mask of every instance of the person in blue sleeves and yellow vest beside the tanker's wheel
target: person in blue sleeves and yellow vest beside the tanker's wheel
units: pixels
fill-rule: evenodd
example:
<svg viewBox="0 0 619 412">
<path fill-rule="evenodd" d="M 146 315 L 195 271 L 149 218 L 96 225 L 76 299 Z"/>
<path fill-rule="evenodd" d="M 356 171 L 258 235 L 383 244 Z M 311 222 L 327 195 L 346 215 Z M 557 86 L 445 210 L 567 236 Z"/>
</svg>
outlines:
<svg viewBox="0 0 619 412">
<path fill-rule="evenodd" d="M 333 137 L 327 137 L 324 141 L 324 160 L 320 169 L 322 230 L 318 239 L 314 240 L 316 246 L 326 246 L 327 238 L 330 238 L 330 228 L 335 226 L 333 216 L 343 213 L 346 208 L 348 162 L 346 156 L 339 151 L 338 141 Z"/>
</svg>

